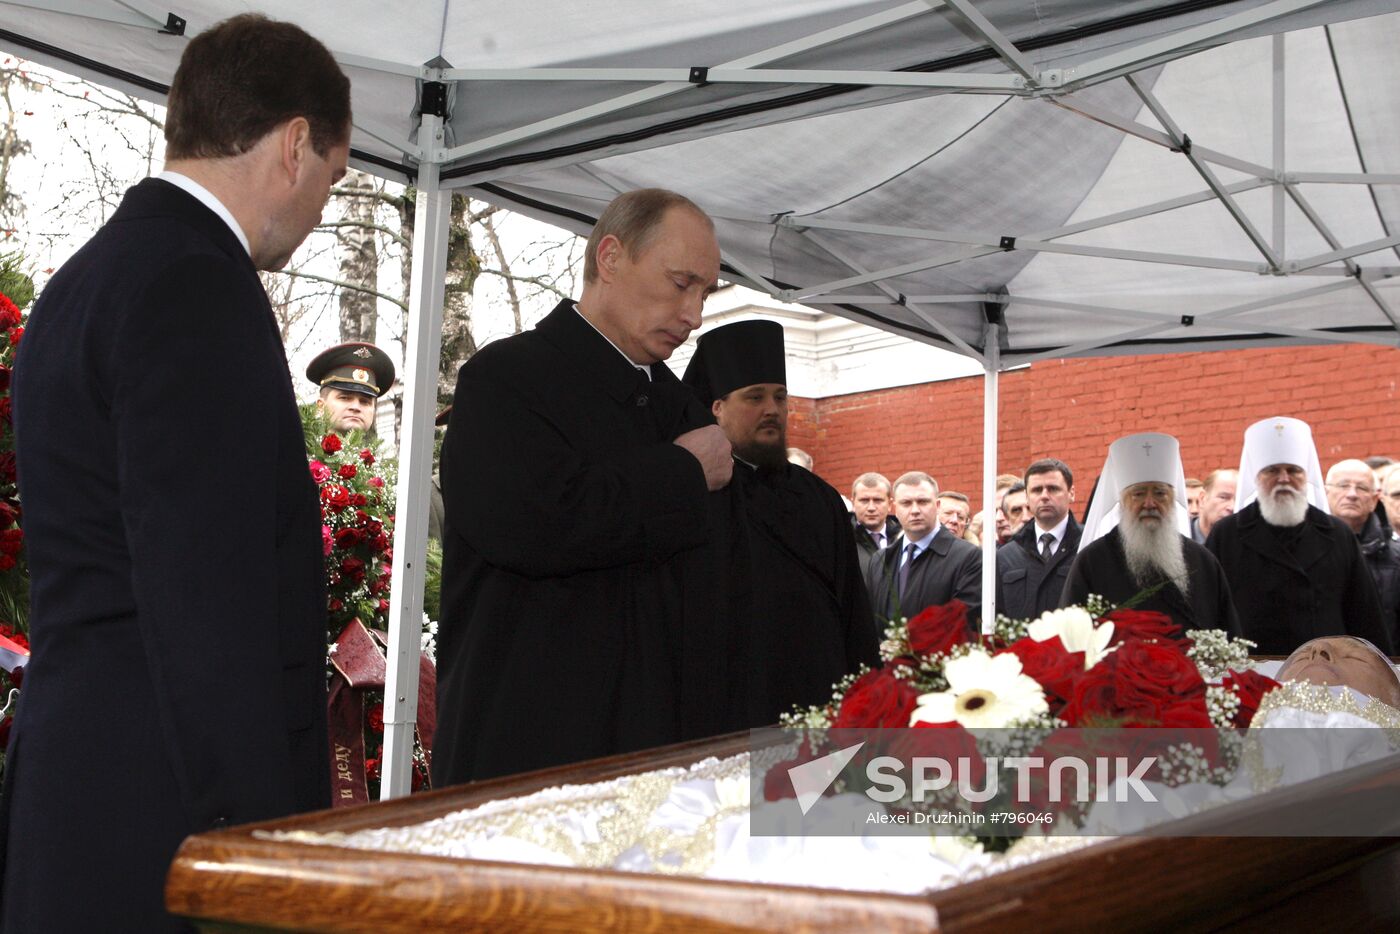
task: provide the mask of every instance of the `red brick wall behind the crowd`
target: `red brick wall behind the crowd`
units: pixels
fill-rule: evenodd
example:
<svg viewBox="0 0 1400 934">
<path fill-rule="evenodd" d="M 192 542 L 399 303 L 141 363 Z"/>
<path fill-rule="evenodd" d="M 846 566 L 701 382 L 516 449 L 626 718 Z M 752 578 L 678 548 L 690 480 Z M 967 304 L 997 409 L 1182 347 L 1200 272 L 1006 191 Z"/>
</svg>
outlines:
<svg viewBox="0 0 1400 934">
<path fill-rule="evenodd" d="M 1187 476 L 1238 466 L 1245 428 L 1287 414 L 1312 424 L 1323 469 L 1345 456 L 1400 458 L 1400 351 L 1369 344 L 1053 360 L 1000 379 L 998 473 L 1058 456 L 1082 517 L 1107 445 L 1134 431 L 1182 442 Z M 788 442 L 850 494 L 865 471 L 927 471 L 981 499 L 981 377 L 826 399 L 792 398 Z M 974 508 L 976 511 L 976 508 Z"/>
</svg>

